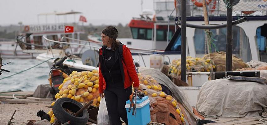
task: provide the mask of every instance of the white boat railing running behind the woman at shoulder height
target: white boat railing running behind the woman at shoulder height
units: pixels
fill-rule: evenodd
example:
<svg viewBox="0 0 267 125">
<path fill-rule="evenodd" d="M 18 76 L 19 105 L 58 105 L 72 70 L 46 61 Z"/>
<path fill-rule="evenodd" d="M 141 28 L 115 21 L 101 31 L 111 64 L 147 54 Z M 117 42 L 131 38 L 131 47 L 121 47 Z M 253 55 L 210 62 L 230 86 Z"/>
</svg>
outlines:
<svg viewBox="0 0 267 125">
<path fill-rule="evenodd" d="M 47 50 L 47 54 L 48 54 L 48 46 L 50 47 L 50 51 L 52 53 L 52 56 L 54 57 L 54 54 L 53 54 L 53 51 L 52 51 L 52 47 L 51 47 L 51 44 L 50 42 L 56 42 L 56 43 L 61 43 L 61 44 L 68 44 L 69 46 L 70 45 L 80 45 L 80 46 L 87 46 L 87 47 L 92 47 L 93 50 L 97 50 L 99 47 L 98 46 L 92 46 L 92 45 L 86 45 L 86 44 L 79 44 L 79 43 L 72 43 L 72 42 L 61 42 L 61 41 L 56 41 L 56 40 L 51 40 L 51 39 L 48 39 L 46 38 L 45 36 L 43 36 L 43 38 L 45 39 L 47 46 L 46 46 L 46 50 Z M 70 37 L 65 37 L 65 38 L 70 38 Z M 70 38 L 70 39 L 73 39 L 73 38 Z M 79 39 L 74 39 L 74 40 L 77 40 L 77 41 L 81 41 L 81 42 L 88 42 L 88 41 L 85 41 L 85 40 L 79 40 Z M 71 50 L 71 49 L 70 49 Z M 145 49 L 140 49 L 140 50 L 145 50 Z M 143 60 L 143 63 L 144 63 L 144 66 L 146 67 L 145 65 L 145 62 L 144 62 L 144 58 L 143 58 L 143 55 L 154 55 L 154 56 L 161 56 L 161 57 L 166 57 L 168 58 L 168 61 L 169 61 L 169 64 L 171 63 L 171 60 L 168 56 L 166 55 L 163 55 L 163 54 L 155 54 L 155 53 L 145 53 L 145 52 L 131 52 L 131 53 L 135 53 L 135 54 L 138 54 L 139 56 L 141 56 L 142 60 Z M 71 54 L 73 55 L 72 51 L 71 51 Z"/>
</svg>

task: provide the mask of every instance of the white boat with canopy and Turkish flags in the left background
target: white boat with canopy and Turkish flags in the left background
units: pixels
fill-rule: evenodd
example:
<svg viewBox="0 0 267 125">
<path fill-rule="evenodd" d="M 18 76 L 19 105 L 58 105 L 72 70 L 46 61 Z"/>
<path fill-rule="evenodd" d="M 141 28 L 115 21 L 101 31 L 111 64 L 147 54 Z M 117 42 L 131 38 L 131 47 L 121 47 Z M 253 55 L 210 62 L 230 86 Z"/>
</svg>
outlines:
<svg viewBox="0 0 267 125">
<path fill-rule="evenodd" d="M 79 22 L 74 21 L 73 23 L 64 22 L 59 23 L 59 19 L 55 20 L 55 23 L 45 23 L 39 24 L 39 16 L 54 15 L 55 17 L 66 16 L 66 15 L 81 15 L 82 12 L 70 11 L 70 12 L 52 12 L 52 13 L 41 13 L 38 14 L 38 24 L 37 25 L 25 25 L 23 32 L 17 36 L 17 42 L 22 48 L 23 53 L 33 53 L 33 57 L 36 58 L 40 53 L 46 53 L 47 47 L 53 49 L 64 49 L 65 53 L 72 53 L 79 55 L 86 50 L 81 46 L 72 46 L 71 49 L 68 46 L 46 43 L 43 36 L 57 41 L 64 42 L 74 42 L 73 39 L 80 39 L 80 34 L 84 34 L 83 25 Z M 47 19 L 46 19 L 47 20 Z M 80 20 L 84 22 L 84 20 Z M 74 32 L 65 33 L 65 26 L 73 26 Z M 70 39 L 63 39 L 64 37 L 69 37 Z M 88 42 L 79 42 L 81 44 L 88 44 Z M 90 43 L 89 43 L 90 44 Z"/>
</svg>

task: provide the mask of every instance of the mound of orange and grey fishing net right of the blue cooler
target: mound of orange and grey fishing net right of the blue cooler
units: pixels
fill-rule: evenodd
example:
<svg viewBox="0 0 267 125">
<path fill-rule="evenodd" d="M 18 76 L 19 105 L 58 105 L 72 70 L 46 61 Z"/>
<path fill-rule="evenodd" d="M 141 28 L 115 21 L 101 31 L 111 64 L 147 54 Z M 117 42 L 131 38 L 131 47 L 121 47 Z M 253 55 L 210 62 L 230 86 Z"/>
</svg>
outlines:
<svg viewBox="0 0 267 125">
<path fill-rule="evenodd" d="M 154 68 L 138 67 L 140 89 L 150 99 L 150 118 L 152 122 L 172 124 L 195 124 L 196 117 L 182 91 L 163 73 Z M 166 86 L 171 95 L 162 92 Z"/>
</svg>

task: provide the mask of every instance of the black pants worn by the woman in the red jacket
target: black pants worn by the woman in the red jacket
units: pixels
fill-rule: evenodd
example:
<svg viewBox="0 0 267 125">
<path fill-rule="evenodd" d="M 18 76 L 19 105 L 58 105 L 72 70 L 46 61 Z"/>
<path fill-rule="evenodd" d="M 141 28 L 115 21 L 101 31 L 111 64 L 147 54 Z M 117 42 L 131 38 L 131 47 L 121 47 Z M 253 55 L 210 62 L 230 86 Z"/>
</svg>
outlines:
<svg viewBox="0 0 267 125">
<path fill-rule="evenodd" d="M 104 91 L 106 99 L 106 108 L 111 125 L 121 125 L 120 117 L 124 123 L 128 124 L 125 103 L 132 94 L 132 86 L 124 89 L 123 87 L 108 87 Z"/>
</svg>

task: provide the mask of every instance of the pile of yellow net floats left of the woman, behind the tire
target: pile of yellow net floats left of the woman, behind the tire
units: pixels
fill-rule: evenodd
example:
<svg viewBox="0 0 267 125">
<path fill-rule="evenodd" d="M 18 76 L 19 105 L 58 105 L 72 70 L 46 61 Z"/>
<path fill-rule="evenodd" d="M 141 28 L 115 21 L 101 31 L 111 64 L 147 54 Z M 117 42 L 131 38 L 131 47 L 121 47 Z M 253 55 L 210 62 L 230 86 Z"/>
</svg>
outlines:
<svg viewBox="0 0 267 125">
<path fill-rule="evenodd" d="M 55 98 L 71 98 L 77 102 L 89 102 L 93 100 L 92 105 L 99 106 L 99 73 L 97 70 L 77 72 L 73 71 L 68 78 L 64 79 L 63 83 L 58 87 L 59 93 Z M 51 105 L 53 106 L 55 102 Z M 48 113 L 51 117 L 50 123 L 54 123 L 55 116 L 53 111 Z"/>
</svg>

